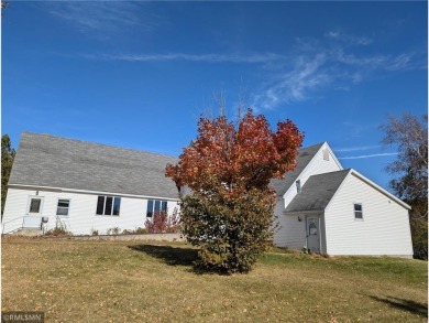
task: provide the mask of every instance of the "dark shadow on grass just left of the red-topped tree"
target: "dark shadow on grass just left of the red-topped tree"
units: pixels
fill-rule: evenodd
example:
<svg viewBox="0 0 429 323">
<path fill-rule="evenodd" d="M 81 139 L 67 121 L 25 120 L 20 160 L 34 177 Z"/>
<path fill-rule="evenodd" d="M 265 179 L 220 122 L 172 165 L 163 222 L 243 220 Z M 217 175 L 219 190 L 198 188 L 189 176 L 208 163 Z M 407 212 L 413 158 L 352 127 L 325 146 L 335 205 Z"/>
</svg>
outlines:
<svg viewBox="0 0 429 323">
<path fill-rule="evenodd" d="M 145 252 L 163 260 L 169 266 L 194 266 L 198 258 L 198 250 L 191 248 L 175 248 L 170 246 L 134 245 L 130 249 Z"/>
</svg>

